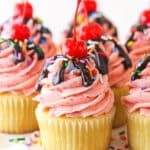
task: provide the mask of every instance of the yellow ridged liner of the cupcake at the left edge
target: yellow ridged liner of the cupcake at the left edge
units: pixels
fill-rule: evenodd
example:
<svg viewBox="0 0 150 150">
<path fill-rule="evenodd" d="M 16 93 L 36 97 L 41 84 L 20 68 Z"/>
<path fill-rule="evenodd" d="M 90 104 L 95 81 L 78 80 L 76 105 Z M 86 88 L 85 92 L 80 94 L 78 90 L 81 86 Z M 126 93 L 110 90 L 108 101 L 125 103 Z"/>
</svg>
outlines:
<svg viewBox="0 0 150 150">
<path fill-rule="evenodd" d="M 0 132 L 27 133 L 38 129 L 33 96 L 0 94 Z"/>
</svg>

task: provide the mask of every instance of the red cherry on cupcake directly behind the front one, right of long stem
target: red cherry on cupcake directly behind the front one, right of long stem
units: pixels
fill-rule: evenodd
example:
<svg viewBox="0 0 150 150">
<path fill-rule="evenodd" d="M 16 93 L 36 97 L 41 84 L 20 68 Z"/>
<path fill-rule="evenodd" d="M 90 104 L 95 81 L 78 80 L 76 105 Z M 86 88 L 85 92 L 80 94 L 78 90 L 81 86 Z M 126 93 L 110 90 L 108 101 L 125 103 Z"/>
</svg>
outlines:
<svg viewBox="0 0 150 150">
<path fill-rule="evenodd" d="M 98 23 L 89 23 L 83 25 L 78 34 L 81 40 L 96 40 L 102 36 L 103 29 Z"/>
</svg>

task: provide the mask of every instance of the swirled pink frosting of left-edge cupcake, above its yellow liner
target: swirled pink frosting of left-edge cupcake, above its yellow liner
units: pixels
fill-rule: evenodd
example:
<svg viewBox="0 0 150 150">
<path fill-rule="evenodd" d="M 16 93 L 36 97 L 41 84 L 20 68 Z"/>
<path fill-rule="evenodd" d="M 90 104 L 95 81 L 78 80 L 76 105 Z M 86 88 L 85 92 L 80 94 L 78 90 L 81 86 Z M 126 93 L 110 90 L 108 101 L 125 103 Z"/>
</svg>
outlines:
<svg viewBox="0 0 150 150">
<path fill-rule="evenodd" d="M 32 50 L 25 55 L 25 60 L 17 64 L 13 60 L 13 47 L 1 44 L 0 49 L 0 93 L 35 93 L 35 84 L 42 70 L 44 59 L 38 60 L 38 55 L 29 56 Z"/>
</svg>

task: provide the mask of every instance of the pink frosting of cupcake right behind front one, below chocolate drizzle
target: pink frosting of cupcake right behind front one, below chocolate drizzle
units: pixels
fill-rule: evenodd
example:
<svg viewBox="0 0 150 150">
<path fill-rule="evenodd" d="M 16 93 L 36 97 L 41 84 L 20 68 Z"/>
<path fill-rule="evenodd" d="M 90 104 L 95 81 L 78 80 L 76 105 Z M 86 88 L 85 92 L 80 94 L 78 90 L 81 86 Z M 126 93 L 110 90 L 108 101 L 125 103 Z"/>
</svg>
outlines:
<svg viewBox="0 0 150 150">
<path fill-rule="evenodd" d="M 120 46 L 126 52 L 125 47 L 123 47 L 123 45 Z M 125 86 L 130 79 L 130 68 L 126 69 L 123 64 L 125 58 L 119 56 L 119 51 L 115 50 L 115 46 L 112 42 L 109 41 L 106 42 L 104 44 L 104 49 L 107 57 L 109 58 L 108 77 L 110 86 L 115 87 Z"/>
</svg>

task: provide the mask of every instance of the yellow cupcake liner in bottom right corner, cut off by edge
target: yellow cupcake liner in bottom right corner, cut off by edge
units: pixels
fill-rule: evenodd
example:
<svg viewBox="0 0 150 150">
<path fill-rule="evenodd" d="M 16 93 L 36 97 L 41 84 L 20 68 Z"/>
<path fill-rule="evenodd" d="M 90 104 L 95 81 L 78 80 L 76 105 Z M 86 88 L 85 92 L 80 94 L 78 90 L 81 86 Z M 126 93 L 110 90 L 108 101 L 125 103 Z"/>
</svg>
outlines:
<svg viewBox="0 0 150 150">
<path fill-rule="evenodd" d="M 131 150 L 150 149 L 150 116 L 127 113 L 127 134 Z"/>
</svg>

